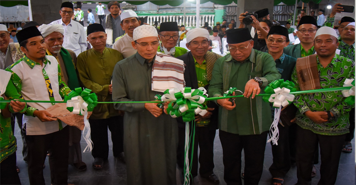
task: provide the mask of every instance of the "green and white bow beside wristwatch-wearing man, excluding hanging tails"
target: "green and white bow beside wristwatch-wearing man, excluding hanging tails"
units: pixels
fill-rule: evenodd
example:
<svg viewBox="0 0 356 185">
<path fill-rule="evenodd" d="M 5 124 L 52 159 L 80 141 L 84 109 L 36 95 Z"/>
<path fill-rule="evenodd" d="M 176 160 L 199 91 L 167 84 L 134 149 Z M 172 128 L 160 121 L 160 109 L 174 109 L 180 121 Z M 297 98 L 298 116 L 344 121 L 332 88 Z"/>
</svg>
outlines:
<svg viewBox="0 0 356 185">
<path fill-rule="evenodd" d="M 294 83 L 288 80 L 285 82 L 283 79 L 276 80 L 264 88 L 266 94 L 272 95 L 263 96 L 262 99 L 265 102 L 273 102 L 275 108 L 287 106 L 294 100 L 294 95 L 289 94 L 296 91 L 294 86 Z"/>
</svg>

